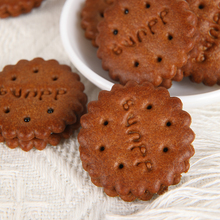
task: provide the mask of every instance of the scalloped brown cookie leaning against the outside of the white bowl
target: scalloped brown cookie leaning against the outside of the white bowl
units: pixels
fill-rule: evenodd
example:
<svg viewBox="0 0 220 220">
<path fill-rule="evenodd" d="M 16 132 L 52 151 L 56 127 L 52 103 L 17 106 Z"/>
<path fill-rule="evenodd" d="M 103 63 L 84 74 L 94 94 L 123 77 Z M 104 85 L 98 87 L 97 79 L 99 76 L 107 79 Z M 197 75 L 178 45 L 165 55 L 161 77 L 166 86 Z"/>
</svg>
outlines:
<svg viewBox="0 0 220 220">
<path fill-rule="evenodd" d="M 190 115 L 167 89 L 145 82 L 101 91 L 81 117 L 83 168 L 109 196 L 150 199 L 180 181 L 194 154 Z"/>
</svg>

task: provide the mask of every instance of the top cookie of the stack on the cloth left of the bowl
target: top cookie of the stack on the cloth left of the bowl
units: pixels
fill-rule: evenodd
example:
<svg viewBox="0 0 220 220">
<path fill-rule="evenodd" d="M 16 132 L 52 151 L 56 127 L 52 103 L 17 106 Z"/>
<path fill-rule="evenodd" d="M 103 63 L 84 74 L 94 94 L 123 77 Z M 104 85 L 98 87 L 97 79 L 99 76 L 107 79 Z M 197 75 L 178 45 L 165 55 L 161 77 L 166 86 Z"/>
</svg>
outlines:
<svg viewBox="0 0 220 220">
<path fill-rule="evenodd" d="M 0 131 L 4 140 L 47 140 L 86 111 L 84 85 L 69 66 L 35 58 L 0 72 Z"/>
</svg>

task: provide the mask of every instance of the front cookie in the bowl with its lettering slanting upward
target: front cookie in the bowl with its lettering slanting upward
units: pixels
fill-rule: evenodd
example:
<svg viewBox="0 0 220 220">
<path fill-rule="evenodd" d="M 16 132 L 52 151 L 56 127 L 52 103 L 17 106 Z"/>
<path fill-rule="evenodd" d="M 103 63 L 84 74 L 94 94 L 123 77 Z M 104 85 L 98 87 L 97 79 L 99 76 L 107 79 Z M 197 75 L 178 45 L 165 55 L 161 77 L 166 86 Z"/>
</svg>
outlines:
<svg viewBox="0 0 220 220">
<path fill-rule="evenodd" d="M 186 64 L 196 22 L 184 0 L 118 0 L 98 25 L 97 55 L 113 80 L 159 86 Z"/>
</svg>

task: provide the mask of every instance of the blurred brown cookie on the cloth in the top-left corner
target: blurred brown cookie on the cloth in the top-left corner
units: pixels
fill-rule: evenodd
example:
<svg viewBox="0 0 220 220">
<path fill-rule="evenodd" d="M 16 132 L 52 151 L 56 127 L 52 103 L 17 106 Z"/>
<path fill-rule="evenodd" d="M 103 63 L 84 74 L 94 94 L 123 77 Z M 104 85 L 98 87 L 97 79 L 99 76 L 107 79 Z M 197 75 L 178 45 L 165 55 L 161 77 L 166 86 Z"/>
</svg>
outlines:
<svg viewBox="0 0 220 220">
<path fill-rule="evenodd" d="M 0 0 L 0 18 L 19 16 L 39 7 L 43 0 Z"/>
</svg>

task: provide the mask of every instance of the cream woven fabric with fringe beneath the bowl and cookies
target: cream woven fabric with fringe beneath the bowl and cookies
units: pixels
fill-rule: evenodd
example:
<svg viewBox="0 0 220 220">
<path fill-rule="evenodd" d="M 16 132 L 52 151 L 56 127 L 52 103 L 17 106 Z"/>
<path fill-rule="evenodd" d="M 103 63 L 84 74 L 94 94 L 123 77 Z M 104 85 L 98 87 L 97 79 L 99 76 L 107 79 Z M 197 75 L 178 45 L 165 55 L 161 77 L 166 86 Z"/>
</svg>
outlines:
<svg viewBox="0 0 220 220">
<path fill-rule="evenodd" d="M 29 14 L 0 20 L 0 70 L 20 59 L 42 57 L 78 72 L 60 38 L 64 3 L 45 0 Z M 82 75 L 81 80 L 89 101 L 96 100 L 100 89 Z M 0 143 L 0 220 L 220 219 L 220 98 L 188 112 L 196 133 L 191 168 L 178 185 L 147 202 L 110 198 L 91 183 L 79 158 L 78 131 L 43 151 L 26 153 Z"/>
</svg>

